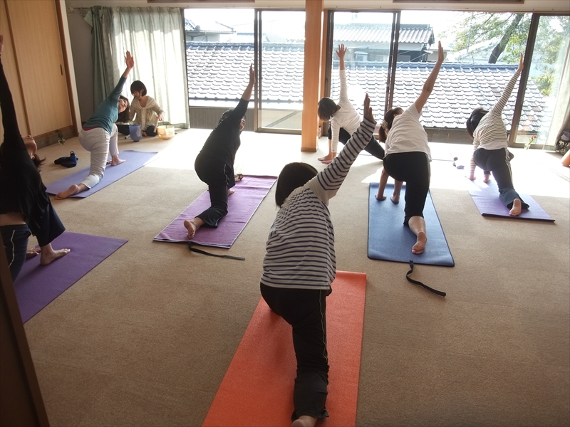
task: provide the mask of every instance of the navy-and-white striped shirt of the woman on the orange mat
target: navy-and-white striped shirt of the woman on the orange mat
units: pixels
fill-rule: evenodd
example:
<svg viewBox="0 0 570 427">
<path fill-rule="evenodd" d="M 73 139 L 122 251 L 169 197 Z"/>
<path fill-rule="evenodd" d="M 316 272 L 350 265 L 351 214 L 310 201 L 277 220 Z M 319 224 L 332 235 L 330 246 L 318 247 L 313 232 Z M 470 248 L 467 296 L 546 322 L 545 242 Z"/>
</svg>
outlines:
<svg viewBox="0 0 570 427">
<path fill-rule="evenodd" d="M 269 232 L 261 283 L 274 288 L 331 288 L 336 255 L 328 200 L 336 195 L 374 127 L 375 122 L 365 117 L 338 157 L 285 200 Z"/>
</svg>

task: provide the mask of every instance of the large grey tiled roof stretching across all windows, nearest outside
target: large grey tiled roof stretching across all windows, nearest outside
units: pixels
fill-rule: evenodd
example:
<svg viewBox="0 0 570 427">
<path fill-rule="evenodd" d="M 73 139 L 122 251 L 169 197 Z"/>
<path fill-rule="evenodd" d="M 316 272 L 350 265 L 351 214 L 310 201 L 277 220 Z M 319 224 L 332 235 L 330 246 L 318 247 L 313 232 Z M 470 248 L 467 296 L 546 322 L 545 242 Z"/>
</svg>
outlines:
<svg viewBox="0 0 570 427">
<path fill-rule="evenodd" d="M 187 48 L 190 100 L 239 100 L 247 86 L 247 68 L 254 62 L 252 43 L 191 43 Z M 263 102 L 300 104 L 303 102 L 304 46 L 264 43 Z M 338 100 L 338 61 L 333 63 L 331 97 Z M 363 93 L 371 97 L 375 112 L 383 112 L 387 63 L 346 64 L 348 95 L 362 114 Z M 408 107 L 420 94 L 433 63 L 398 63 L 393 105 Z M 511 78 L 516 65 L 443 63 L 435 89 L 427 101 L 421 122 L 426 127 L 465 129 L 473 108 L 492 107 Z M 509 128 L 518 83 L 504 108 Z M 357 95 L 354 95 L 355 97 Z M 529 80 L 520 120 L 521 130 L 538 130 L 546 102 Z M 378 113 L 377 113 L 378 114 Z"/>
</svg>

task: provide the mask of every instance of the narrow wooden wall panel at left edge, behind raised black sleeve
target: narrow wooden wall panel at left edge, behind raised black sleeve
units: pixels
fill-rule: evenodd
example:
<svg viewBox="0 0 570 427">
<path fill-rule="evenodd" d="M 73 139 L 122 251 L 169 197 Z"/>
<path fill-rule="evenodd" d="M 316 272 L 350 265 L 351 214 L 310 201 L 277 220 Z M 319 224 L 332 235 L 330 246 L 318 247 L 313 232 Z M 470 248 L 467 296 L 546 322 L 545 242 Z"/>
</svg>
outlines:
<svg viewBox="0 0 570 427">
<path fill-rule="evenodd" d="M 18 68 L 16 66 L 16 58 L 14 57 L 14 46 L 10 33 L 8 16 L 6 16 L 6 1 L 0 0 L 0 34 L 4 36 L 4 52 L 2 53 L 2 66 L 6 80 L 10 85 L 10 92 L 16 107 L 16 117 L 18 117 L 18 125 L 21 135 L 29 135 L 28 121 L 26 120 L 26 111 L 24 109 L 24 99 L 20 90 L 20 80 Z M 0 114 L 1 117 L 1 114 Z M 4 128 L 0 120 L 0 139 L 4 135 Z"/>
</svg>

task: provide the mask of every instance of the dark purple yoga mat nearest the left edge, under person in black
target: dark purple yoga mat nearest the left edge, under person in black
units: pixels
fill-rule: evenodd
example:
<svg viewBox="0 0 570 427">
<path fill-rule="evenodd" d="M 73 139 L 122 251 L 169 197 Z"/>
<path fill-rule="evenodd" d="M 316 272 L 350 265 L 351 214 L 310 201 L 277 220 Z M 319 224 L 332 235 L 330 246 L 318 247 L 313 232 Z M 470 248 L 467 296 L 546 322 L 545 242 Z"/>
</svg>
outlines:
<svg viewBox="0 0 570 427">
<path fill-rule="evenodd" d="M 22 322 L 31 319 L 126 242 L 122 238 L 66 231 L 51 246 L 69 248 L 70 253 L 48 265 L 40 265 L 39 255 L 26 260 L 14 283 Z"/>
</svg>

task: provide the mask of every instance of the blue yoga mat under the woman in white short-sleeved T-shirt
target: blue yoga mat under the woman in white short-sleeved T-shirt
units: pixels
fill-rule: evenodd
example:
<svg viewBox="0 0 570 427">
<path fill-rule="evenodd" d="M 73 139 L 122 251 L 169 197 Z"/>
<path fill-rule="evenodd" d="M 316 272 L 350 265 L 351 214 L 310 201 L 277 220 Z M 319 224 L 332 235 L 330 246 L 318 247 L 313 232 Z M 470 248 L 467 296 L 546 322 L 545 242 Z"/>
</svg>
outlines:
<svg viewBox="0 0 570 427">
<path fill-rule="evenodd" d="M 388 196 L 385 201 L 376 200 L 378 183 L 370 184 L 368 195 L 368 258 L 373 260 L 396 261 L 415 264 L 442 265 L 453 267 L 455 262 L 441 228 L 440 218 L 433 206 L 431 194 L 427 193 L 423 215 L 427 243 L 420 255 L 412 253 L 416 237 L 410 228 L 404 226 L 405 186 L 400 194 L 400 203 L 393 204 L 390 196 L 393 184 L 388 184 L 384 191 Z"/>
</svg>

